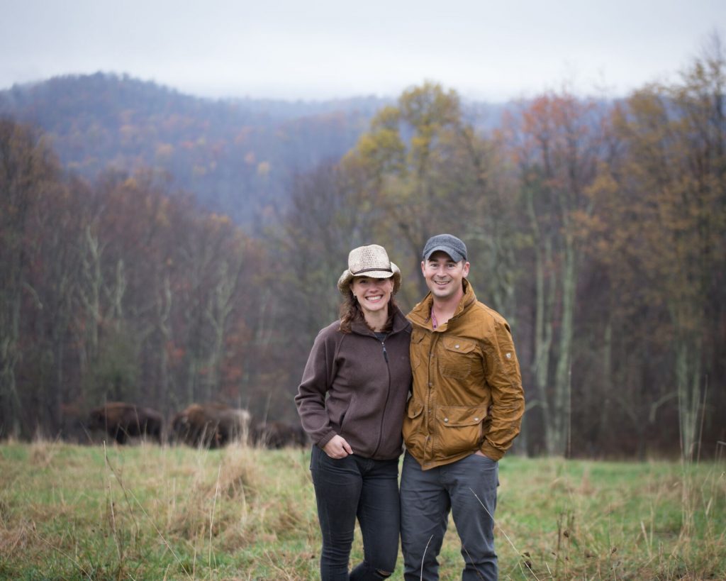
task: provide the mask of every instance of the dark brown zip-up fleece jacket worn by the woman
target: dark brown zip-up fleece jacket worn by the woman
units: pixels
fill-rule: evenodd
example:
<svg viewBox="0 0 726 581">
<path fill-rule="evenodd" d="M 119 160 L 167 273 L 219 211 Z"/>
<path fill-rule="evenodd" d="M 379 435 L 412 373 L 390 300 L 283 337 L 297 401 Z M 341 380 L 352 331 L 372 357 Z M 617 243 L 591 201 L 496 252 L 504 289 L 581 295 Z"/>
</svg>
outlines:
<svg viewBox="0 0 726 581">
<path fill-rule="evenodd" d="M 380 341 L 363 322 L 341 333 L 322 329 L 295 396 L 303 428 L 318 447 L 338 434 L 353 453 L 393 460 L 403 451 L 401 423 L 411 389 L 411 324 L 396 309 L 393 329 Z"/>
</svg>

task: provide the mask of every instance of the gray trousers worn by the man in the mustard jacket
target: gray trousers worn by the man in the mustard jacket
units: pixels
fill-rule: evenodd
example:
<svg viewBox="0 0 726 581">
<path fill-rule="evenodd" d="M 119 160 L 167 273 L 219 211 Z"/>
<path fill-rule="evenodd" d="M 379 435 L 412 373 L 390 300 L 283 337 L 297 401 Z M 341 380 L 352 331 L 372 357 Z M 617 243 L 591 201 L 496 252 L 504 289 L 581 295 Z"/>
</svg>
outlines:
<svg viewBox="0 0 726 581">
<path fill-rule="evenodd" d="M 406 452 L 401 470 L 401 548 L 405 580 L 439 579 L 437 556 L 444 541 L 449 511 L 454 516 L 462 545 L 465 562 L 462 580 L 497 579 L 494 508 L 498 485 L 499 465 L 484 456 L 472 454 L 423 471 L 415 458 Z"/>
</svg>

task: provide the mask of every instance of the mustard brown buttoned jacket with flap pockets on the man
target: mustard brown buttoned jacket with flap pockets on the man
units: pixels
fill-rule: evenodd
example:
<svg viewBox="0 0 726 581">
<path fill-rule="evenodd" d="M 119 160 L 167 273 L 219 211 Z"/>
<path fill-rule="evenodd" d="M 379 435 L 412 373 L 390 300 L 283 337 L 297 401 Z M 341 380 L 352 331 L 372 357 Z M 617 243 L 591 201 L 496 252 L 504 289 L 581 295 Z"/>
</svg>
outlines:
<svg viewBox="0 0 726 581">
<path fill-rule="evenodd" d="M 463 284 L 464 296 L 444 325 L 431 325 L 431 293 L 407 315 L 413 394 L 403 433 L 424 470 L 478 450 L 499 460 L 519 434 L 524 412 L 509 325 L 476 300 L 468 280 Z"/>
</svg>

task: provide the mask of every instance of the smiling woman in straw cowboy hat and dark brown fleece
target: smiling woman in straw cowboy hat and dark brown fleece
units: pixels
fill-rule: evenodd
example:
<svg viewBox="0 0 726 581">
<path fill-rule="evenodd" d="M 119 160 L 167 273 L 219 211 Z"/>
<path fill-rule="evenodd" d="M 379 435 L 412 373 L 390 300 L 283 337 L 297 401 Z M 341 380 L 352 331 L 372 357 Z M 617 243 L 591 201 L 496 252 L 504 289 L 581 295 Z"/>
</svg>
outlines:
<svg viewBox="0 0 726 581">
<path fill-rule="evenodd" d="M 401 424 L 411 386 L 411 325 L 393 301 L 400 285 L 383 246 L 351 251 L 338 280 L 340 320 L 315 338 L 295 397 L 315 443 L 323 581 L 385 579 L 396 568 Z M 348 576 L 356 517 L 364 558 Z"/>
</svg>

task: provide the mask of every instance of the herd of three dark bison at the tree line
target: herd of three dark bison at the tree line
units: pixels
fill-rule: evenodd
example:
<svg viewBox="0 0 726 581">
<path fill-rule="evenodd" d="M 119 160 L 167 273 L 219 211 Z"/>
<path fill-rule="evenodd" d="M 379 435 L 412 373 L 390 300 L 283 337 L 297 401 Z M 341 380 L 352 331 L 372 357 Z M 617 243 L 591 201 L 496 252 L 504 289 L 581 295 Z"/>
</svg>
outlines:
<svg viewBox="0 0 726 581">
<path fill-rule="evenodd" d="M 299 424 L 252 420 L 248 410 L 222 404 L 192 404 L 176 413 L 166 424 L 163 415 L 150 407 L 111 402 L 91 410 L 86 422 L 90 430 L 103 430 L 118 444 L 130 437 L 144 437 L 161 443 L 219 448 L 230 442 L 282 448 L 304 446 L 307 436 Z"/>
</svg>

